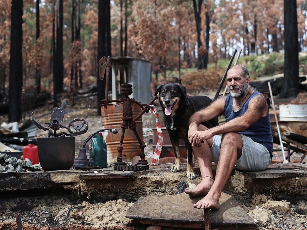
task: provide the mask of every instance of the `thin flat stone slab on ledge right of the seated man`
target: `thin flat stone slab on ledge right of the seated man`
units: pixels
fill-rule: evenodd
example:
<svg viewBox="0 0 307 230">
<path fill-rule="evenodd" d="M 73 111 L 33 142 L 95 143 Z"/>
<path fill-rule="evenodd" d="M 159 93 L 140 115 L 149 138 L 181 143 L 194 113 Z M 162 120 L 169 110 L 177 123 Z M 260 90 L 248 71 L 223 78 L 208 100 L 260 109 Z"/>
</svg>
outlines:
<svg viewBox="0 0 307 230">
<path fill-rule="evenodd" d="M 273 178 L 291 178 L 297 176 L 306 176 L 305 170 L 265 170 L 260 172 L 243 172 L 243 174 L 250 174 L 257 179 L 273 179 Z"/>
</svg>

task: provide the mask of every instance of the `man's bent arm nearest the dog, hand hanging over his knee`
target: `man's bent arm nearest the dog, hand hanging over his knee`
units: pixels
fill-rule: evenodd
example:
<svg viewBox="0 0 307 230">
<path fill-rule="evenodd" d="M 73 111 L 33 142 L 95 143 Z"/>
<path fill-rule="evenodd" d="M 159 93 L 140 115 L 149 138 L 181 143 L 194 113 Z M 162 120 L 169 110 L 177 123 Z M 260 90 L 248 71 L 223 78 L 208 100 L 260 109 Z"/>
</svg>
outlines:
<svg viewBox="0 0 307 230">
<path fill-rule="evenodd" d="M 223 113 L 226 97 L 217 99 L 208 107 L 201 109 L 190 117 L 188 121 L 188 140 L 193 140 L 194 135 L 198 131 L 198 125 L 204 121 L 209 121 L 212 118 Z"/>
</svg>

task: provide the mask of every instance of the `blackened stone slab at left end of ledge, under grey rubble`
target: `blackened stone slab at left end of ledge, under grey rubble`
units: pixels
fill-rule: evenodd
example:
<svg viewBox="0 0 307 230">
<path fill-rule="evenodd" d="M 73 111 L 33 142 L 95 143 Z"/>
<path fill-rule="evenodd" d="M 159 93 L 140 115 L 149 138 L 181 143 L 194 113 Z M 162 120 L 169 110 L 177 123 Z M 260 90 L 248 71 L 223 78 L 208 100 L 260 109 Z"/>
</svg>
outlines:
<svg viewBox="0 0 307 230">
<path fill-rule="evenodd" d="M 0 191 L 47 188 L 51 185 L 48 172 L 0 173 Z"/>
</svg>

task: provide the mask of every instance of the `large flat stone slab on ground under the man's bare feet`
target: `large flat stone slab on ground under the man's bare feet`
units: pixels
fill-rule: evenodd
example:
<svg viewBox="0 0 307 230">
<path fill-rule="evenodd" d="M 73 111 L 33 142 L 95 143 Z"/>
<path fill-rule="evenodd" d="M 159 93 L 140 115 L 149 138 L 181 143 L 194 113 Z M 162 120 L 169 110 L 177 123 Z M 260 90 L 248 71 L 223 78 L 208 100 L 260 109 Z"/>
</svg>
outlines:
<svg viewBox="0 0 307 230">
<path fill-rule="evenodd" d="M 193 208 L 202 197 L 190 197 L 182 193 L 169 196 L 141 197 L 128 210 L 127 218 L 143 224 L 181 228 L 204 228 L 204 210 Z M 254 220 L 231 195 L 222 193 L 220 209 L 210 211 L 211 228 L 250 229 Z"/>
</svg>

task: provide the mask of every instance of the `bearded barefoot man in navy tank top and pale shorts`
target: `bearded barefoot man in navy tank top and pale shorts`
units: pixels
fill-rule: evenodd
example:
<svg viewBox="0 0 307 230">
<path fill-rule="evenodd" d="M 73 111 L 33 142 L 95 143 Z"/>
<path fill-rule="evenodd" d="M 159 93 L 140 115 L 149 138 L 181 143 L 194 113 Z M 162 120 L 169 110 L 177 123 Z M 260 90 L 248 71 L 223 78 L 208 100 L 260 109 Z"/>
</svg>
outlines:
<svg viewBox="0 0 307 230">
<path fill-rule="evenodd" d="M 229 95 L 217 99 L 189 119 L 188 139 L 202 180 L 193 189 L 186 189 L 185 193 L 205 195 L 193 205 L 194 208 L 219 209 L 222 189 L 234 168 L 263 171 L 271 163 L 270 100 L 249 86 L 250 80 L 247 68 L 241 65 L 231 67 L 227 73 Z M 220 114 L 224 114 L 225 124 L 210 129 L 200 124 Z M 212 161 L 217 163 L 215 179 Z"/>
</svg>

